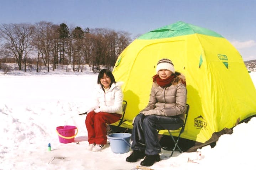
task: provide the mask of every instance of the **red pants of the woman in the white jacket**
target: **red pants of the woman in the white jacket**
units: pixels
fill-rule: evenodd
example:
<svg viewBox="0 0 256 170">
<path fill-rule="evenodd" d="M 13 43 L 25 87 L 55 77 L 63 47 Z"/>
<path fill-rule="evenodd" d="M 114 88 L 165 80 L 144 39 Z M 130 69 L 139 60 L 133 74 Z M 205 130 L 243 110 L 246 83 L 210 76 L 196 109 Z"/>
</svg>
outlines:
<svg viewBox="0 0 256 170">
<path fill-rule="evenodd" d="M 117 113 L 95 113 L 94 111 L 88 113 L 85 119 L 85 125 L 88 132 L 89 144 L 105 145 L 107 143 L 106 123 L 115 123 L 121 117 L 122 115 Z"/>
</svg>

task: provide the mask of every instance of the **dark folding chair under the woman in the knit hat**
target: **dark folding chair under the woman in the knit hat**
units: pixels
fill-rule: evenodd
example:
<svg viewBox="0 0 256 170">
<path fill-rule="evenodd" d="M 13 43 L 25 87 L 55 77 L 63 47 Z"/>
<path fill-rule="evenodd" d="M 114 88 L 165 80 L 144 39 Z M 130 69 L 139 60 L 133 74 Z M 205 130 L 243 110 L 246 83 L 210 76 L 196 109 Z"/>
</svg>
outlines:
<svg viewBox="0 0 256 170">
<path fill-rule="evenodd" d="M 179 132 L 179 136 L 178 136 L 178 138 L 177 138 L 177 140 L 175 141 L 175 139 L 174 139 L 174 137 L 172 136 L 172 132 L 177 132 L 179 129 L 177 129 L 177 130 L 170 130 L 170 129 L 167 129 L 168 130 L 168 132 L 169 132 L 169 134 L 170 134 L 170 136 L 171 136 L 171 138 L 172 138 L 172 140 L 173 140 L 173 142 L 174 142 L 174 148 L 172 149 L 172 153 L 171 153 L 171 155 L 169 156 L 169 157 L 172 157 L 172 154 L 173 154 L 173 152 L 175 151 L 175 149 L 176 149 L 176 147 L 178 148 L 178 150 L 179 150 L 179 152 L 180 153 L 182 153 L 182 150 L 181 150 L 181 148 L 179 148 L 179 146 L 178 146 L 178 142 L 179 142 L 179 137 L 181 137 L 181 134 L 183 133 L 183 131 L 184 131 L 184 129 L 185 129 L 185 125 L 186 125 L 186 122 L 187 122 L 187 118 L 188 118 L 188 110 L 189 110 L 189 105 L 188 104 L 186 104 L 186 109 L 185 109 L 185 120 L 184 120 L 184 124 L 183 124 L 183 126 L 181 127 L 181 128 L 179 128 L 179 129 L 181 129 L 180 130 L 180 132 Z M 158 132 L 159 132 L 160 130 L 158 130 Z"/>
</svg>

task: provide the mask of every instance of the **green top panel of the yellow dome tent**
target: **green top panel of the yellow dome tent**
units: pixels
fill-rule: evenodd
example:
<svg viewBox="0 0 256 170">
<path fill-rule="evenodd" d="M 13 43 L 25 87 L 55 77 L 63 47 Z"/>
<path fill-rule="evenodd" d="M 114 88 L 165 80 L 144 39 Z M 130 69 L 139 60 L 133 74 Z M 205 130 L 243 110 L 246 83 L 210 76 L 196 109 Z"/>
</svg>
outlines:
<svg viewBox="0 0 256 170">
<path fill-rule="evenodd" d="M 146 34 L 141 35 L 137 39 L 171 38 L 175 36 L 190 35 L 190 34 L 196 34 L 196 33 L 223 38 L 223 36 L 221 36 L 220 34 L 212 30 L 197 27 L 185 22 L 178 21 L 174 24 L 152 30 Z"/>
</svg>

